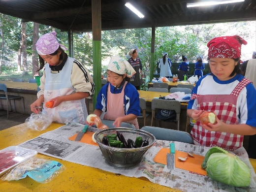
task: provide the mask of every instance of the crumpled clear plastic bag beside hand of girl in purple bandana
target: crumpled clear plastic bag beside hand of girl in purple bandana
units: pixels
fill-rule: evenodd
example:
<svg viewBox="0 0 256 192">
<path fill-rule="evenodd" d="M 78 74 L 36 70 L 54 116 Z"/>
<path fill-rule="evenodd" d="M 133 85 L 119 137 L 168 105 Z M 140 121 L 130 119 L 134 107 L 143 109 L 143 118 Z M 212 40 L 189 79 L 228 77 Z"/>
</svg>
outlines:
<svg viewBox="0 0 256 192">
<path fill-rule="evenodd" d="M 45 130 L 51 125 L 52 122 L 52 117 L 42 112 L 39 112 L 39 114 L 32 113 L 25 121 L 29 128 L 38 131 Z"/>
</svg>

